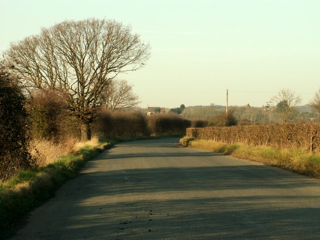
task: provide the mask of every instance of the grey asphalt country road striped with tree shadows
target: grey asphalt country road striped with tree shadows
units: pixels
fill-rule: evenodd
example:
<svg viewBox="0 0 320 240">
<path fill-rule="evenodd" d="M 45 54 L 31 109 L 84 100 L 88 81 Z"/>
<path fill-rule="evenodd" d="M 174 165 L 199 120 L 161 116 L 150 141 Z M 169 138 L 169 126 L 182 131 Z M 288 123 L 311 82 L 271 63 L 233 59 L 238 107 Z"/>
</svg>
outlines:
<svg viewBox="0 0 320 240">
<path fill-rule="evenodd" d="M 320 180 L 177 142 L 102 152 L 12 239 L 320 238 Z"/>
</svg>

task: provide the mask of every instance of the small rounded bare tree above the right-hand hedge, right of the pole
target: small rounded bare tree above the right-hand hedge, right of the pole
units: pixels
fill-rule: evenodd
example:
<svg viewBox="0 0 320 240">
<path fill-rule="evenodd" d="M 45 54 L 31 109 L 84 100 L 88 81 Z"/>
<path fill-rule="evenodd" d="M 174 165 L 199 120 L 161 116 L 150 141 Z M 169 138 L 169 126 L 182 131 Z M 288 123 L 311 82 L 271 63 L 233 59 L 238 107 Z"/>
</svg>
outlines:
<svg viewBox="0 0 320 240">
<path fill-rule="evenodd" d="M 275 111 L 283 122 L 287 122 L 295 115 L 295 107 L 301 102 L 299 96 L 295 96 L 295 92 L 290 89 L 279 90 L 276 96 L 271 98 L 275 102 Z"/>
</svg>

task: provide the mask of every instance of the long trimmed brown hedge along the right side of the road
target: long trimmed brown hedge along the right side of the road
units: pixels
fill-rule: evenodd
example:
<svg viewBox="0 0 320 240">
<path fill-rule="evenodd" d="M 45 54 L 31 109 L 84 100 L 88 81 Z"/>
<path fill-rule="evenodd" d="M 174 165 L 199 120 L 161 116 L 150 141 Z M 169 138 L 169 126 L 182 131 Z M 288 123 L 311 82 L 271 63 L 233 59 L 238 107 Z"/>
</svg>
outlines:
<svg viewBox="0 0 320 240">
<path fill-rule="evenodd" d="M 190 127 L 186 129 L 186 136 L 224 143 L 298 148 L 310 152 L 320 152 L 320 124 L 313 122 Z"/>
</svg>

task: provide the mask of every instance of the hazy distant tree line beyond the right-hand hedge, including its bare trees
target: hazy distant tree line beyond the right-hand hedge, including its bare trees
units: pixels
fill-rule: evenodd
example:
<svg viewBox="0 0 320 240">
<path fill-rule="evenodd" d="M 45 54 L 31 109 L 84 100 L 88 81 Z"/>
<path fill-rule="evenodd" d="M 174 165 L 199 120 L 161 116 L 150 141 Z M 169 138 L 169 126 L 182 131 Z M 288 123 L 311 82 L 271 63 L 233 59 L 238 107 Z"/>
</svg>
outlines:
<svg viewBox="0 0 320 240">
<path fill-rule="evenodd" d="M 230 106 L 231 115 L 236 124 L 265 124 L 281 122 L 319 122 L 320 113 L 320 89 L 315 93 L 310 104 L 298 105 L 301 99 L 295 96 L 290 89 L 281 89 L 276 96 L 270 99 L 269 105 L 253 107 Z M 225 106 L 188 106 L 181 113 L 188 119 L 202 119 L 211 121 L 211 125 L 217 125 L 217 118 L 225 115 Z M 214 120 L 215 119 L 215 120 Z M 220 120 L 220 122 L 222 122 Z M 219 123 L 220 124 L 220 123 Z"/>
</svg>

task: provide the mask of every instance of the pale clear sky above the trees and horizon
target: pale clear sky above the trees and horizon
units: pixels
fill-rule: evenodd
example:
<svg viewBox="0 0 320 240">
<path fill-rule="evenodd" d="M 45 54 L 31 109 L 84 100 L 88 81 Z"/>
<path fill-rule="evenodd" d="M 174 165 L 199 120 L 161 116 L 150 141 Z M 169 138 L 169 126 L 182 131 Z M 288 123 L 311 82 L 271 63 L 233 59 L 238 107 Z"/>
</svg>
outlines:
<svg viewBox="0 0 320 240">
<path fill-rule="evenodd" d="M 320 88 L 320 0 L 0 0 L 0 53 L 64 20 L 130 25 L 151 46 L 118 77 L 139 106 L 262 106 L 288 88 L 307 104 Z"/>
</svg>

